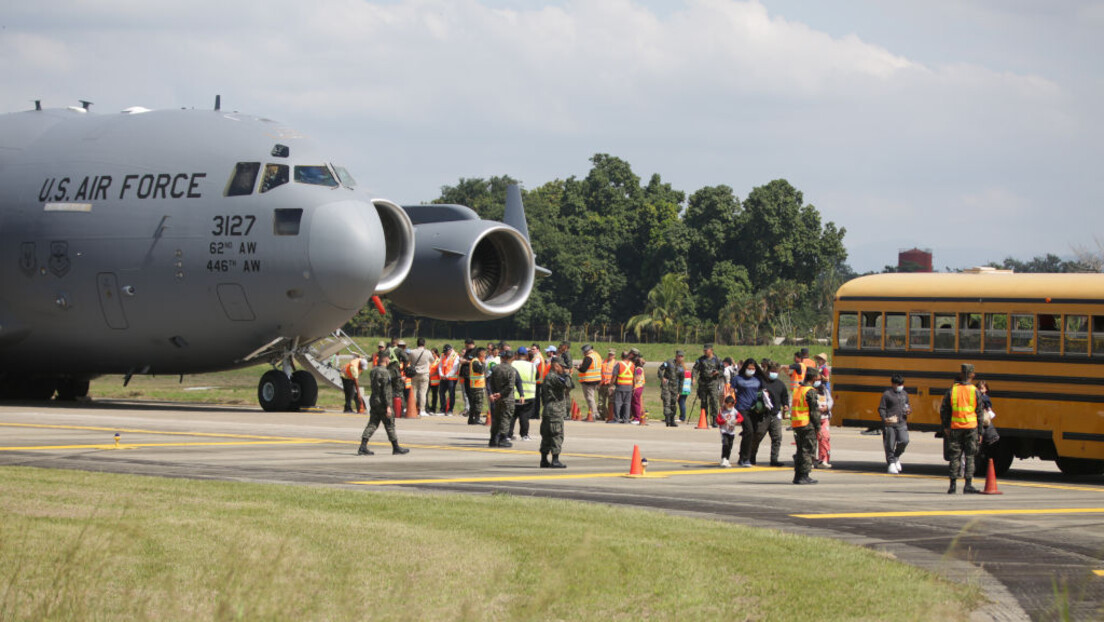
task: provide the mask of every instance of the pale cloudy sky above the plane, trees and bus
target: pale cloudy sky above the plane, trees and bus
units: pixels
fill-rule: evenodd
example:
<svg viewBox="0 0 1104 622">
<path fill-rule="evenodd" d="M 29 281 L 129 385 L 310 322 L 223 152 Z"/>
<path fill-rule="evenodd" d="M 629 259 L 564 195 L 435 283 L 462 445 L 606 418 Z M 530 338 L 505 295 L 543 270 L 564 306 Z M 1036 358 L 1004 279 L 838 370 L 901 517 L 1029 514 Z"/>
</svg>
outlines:
<svg viewBox="0 0 1104 622">
<path fill-rule="evenodd" d="M 859 272 L 1104 241 L 1104 1 L 40 0 L 0 10 L 0 112 L 223 108 L 378 197 L 526 188 L 611 154 L 742 200 L 787 179 Z"/>
</svg>

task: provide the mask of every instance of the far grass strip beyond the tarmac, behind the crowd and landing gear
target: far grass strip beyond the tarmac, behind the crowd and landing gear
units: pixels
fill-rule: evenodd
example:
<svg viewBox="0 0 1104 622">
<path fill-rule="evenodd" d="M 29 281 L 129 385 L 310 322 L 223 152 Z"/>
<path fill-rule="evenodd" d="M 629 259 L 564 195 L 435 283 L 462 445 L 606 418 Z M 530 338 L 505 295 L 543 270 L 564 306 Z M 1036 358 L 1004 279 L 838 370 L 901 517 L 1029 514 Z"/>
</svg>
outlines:
<svg viewBox="0 0 1104 622">
<path fill-rule="evenodd" d="M 379 342 L 379 339 L 361 338 L 358 341 L 361 344 L 361 347 L 371 352 L 375 350 L 375 344 Z M 431 341 L 427 345 L 439 349 L 445 342 L 445 340 Z M 520 344 L 513 345 L 517 346 Z M 581 344 L 573 347 L 572 352 L 576 360 L 581 356 L 578 346 Z M 602 344 L 595 347 L 598 348 L 599 354 L 604 358 L 606 350 L 609 348 L 614 348 L 620 352 L 622 349 L 628 349 L 634 346 L 639 348 L 645 359 L 651 362 L 672 358 L 676 349 L 684 348 L 684 346 L 675 344 Z M 793 360 L 795 349 L 794 346 L 733 346 L 718 349 L 716 356 L 722 359 L 724 357 L 732 357 L 736 360 L 743 360 L 749 357 L 760 360 L 766 357 L 789 363 Z M 701 356 L 701 350 L 687 350 L 686 356 L 687 360 L 692 365 Z M 261 380 L 261 376 L 268 369 L 270 369 L 269 366 L 261 365 L 217 373 L 184 376 L 182 382 L 177 376 L 136 376 L 127 387 L 123 387 L 121 377 L 105 377 L 92 382 L 91 394 L 93 398 L 256 405 L 257 382 Z M 645 410 L 650 419 L 662 420 L 664 408 L 659 399 L 659 383 L 656 379 L 654 368 L 649 368 L 647 381 L 648 384 L 644 389 Z M 701 408 L 700 404 L 691 408 L 696 394 L 697 392 L 691 393 L 687 398 L 687 418 L 691 423 L 698 422 L 698 414 L 693 411 Z M 459 400 L 460 398 L 457 397 L 457 399 Z M 580 402 L 583 415 L 585 417 L 586 403 L 583 402 L 582 390 L 575 391 L 575 400 Z M 327 410 L 341 410 L 343 405 L 341 391 L 329 386 L 320 386 L 318 405 Z"/>
</svg>

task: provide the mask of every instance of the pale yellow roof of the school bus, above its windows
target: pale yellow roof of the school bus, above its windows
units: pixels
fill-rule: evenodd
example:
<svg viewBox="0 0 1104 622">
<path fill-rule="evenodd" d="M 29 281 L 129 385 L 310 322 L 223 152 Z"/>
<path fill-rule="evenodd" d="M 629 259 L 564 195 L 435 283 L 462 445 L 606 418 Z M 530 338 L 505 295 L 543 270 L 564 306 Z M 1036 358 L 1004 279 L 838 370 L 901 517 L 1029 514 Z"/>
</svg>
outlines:
<svg viewBox="0 0 1104 622">
<path fill-rule="evenodd" d="M 845 283 L 837 301 L 931 299 L 1104 299 L 1104 274 L 895 273 L 860 276 Z"/>
</svg>

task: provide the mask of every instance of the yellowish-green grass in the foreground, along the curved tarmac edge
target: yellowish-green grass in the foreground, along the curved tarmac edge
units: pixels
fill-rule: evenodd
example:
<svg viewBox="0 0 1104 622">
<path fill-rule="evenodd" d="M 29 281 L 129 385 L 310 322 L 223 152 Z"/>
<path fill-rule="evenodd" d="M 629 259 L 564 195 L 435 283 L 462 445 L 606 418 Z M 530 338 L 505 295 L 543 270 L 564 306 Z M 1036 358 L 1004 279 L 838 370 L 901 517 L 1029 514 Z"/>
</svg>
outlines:
<svg viewBox="0 0 1104 622">
<path fill-rule="evenodd" d="M 510 495 L 3 467 L 0 497 L 0 620 L 962 620 L 980 598 L 832 540 Z"/>
</svg>

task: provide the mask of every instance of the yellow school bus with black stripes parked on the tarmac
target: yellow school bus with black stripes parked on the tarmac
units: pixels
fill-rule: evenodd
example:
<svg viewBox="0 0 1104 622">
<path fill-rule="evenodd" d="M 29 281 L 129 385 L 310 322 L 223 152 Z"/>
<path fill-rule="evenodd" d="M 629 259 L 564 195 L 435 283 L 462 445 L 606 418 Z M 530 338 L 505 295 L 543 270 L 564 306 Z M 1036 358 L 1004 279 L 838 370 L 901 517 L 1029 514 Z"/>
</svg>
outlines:
<svg viewBox="0 0 1104 622">
<path fill-rule="evenodd" d="M 960 365 L 989 383 L 1000 442 L 1013 457 L 1104 473 L 1104 274 L 877 274 L 836 294 L 834 412 L 880 424 L 878 404 L 901 373 L 909 428 L 937 431 L 940 402 Z"/>
</svg>

